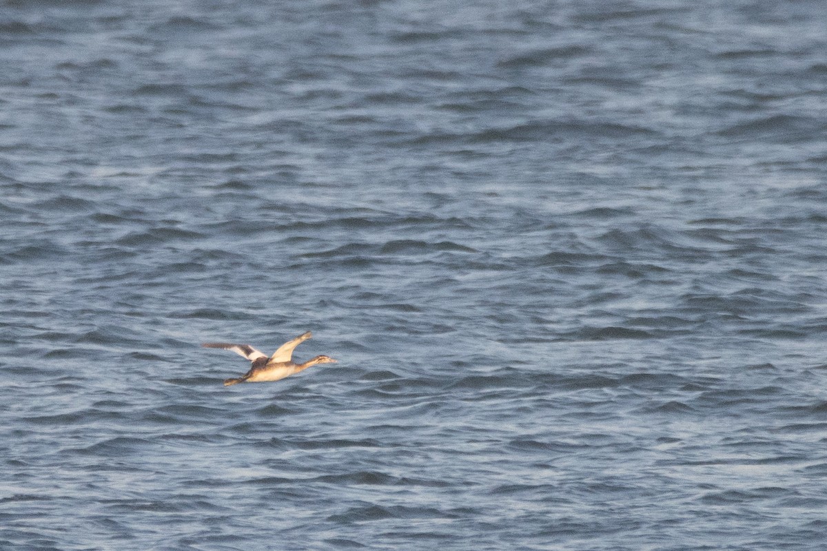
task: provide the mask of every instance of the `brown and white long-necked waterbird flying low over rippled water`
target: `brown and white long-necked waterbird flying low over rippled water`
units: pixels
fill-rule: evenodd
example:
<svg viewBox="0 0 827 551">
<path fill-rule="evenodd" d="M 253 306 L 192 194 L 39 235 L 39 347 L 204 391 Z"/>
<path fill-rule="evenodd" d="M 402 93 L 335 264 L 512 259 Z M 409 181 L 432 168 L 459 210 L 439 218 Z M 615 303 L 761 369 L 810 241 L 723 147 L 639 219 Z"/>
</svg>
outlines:
<svg viewBox="0 0 827 551">
<path fill-rule="evenodd" d="M 250 371 L 240 378 L 231 378 L 224 381 L 224 386 L 229 387 L 239 382 L 278 381 L 294 373 L 299 373 L 299 371 L 304 371 L 304 369 L 317 363 L 335 363 L 336 360 L 329 356 L 316 356 L 304 363 L 293 362 L 293 350 L 312 336 L 310 331 L 308 331 L 304 335 L 299 335 L 294 340 L 288 340 L 269 358 L 260 350 L 254 349 L 250 344 L 204 343 L 202 346 L 211 349 L 232 350 L 252 362 Z"/>
</svg>

